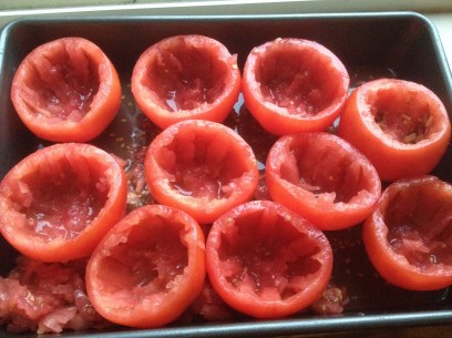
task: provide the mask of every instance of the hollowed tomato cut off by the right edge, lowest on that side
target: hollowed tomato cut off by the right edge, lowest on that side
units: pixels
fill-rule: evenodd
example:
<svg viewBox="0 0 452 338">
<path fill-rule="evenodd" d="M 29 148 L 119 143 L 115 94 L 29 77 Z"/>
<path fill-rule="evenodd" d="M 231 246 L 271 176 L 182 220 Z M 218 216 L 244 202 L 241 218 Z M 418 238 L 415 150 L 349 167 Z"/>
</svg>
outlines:
<svg viewBox="0 0 452 338">
<path fill-rule="evenodd" d="M 452 185 L 434 176 L 401 180 L 363 226 L 369 258 L 389 283 L 411 290 L 452 285 Z"/>
</svg>

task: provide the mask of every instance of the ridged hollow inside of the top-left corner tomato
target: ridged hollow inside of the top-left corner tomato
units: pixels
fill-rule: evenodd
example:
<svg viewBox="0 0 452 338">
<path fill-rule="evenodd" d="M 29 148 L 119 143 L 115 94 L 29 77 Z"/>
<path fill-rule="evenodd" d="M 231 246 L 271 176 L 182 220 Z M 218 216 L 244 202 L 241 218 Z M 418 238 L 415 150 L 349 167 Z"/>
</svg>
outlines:
<svg viewBox="0 0 452 338">
<path fill-rule="evenodd" d="M 97 63 L 74 42 L 54 44 L 44 58 L 30 59 L 22 98 L 37 116 L 79 122 L 99 91 Z"/>
</svg>

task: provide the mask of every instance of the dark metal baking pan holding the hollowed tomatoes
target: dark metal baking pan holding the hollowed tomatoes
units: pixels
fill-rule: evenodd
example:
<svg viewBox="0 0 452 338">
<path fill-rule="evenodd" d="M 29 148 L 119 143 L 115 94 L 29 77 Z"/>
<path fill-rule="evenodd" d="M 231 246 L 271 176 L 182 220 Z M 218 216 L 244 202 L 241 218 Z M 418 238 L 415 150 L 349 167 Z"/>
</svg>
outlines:
<svg viewBox="0 0 452 338">
<path fill-rule="evenodd" d="M 127 123 L 122 123 L 124 116 L 137 111 L 130 91 L 130 78 L 138 55 L 165 37 L 188 33 L 219 40 L 232 53 L 238 54 L 240 68 L 251 48 L 266 41 L 281 37 L 315 40 L 342 60 L 352 85 L 379 76 L 415 81 L 435 92 L 452 113 L 452 79 L 440 38 L 432 23 L 418 13 L 19 19 L 7 24 L 0 37 L 0 177 L 27 154 L 48 144 L 22 125 L 10 100 L 14 71 L 33 48 L 68 35 L 84 37 L 100 45 L 119 70 L 123 84 L 123 104 L 117 119 L 109 127 L 117 132 L 121 125 L 130 130 Z M 94 143 L 109 147 L 105 140 L 101 136 Z M 452 146 L 433 174 L 452 182 Z M 234 322 L 171 325 L 152 330 L 121 328 L 117 331 L 63 332 L 62 336 L 265 337 L 452 324 L 452 290 L 415 293 L 389 286 L 367 260 L 360 231 L 357 226 L 328 234 L 335 247 L 333 279 L 346 286 L 350 295 L 350 304 L 341 315 L 316 316 L 304 311 L 278 320 L 244 318 Z M 16 255 L 0 239 L 1 275 L 13 266 Z M 0 329 L 0 337 L 10 337 L 4 327 Z"/>
</svg>

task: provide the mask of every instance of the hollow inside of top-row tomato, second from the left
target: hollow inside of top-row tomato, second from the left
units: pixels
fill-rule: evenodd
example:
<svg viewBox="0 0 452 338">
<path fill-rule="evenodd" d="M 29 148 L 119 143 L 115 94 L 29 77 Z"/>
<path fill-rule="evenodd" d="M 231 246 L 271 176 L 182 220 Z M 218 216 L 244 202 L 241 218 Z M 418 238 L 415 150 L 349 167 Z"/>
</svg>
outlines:
<svg viewBox="0 0 452 338">
<path fill-rule="evenodd" d="M 172 112 L 213 103 L 223 93 L 229 71 L 210 48 L 185 39 L 163 44 L 143 80 L 156 102 Z"/>
</svg>

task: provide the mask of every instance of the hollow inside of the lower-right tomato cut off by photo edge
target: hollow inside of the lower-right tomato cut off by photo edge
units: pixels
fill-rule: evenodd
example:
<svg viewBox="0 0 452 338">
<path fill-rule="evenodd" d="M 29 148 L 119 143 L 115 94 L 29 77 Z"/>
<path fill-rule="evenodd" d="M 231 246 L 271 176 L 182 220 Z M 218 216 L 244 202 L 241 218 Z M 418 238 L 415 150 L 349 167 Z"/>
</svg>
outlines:
<svg viewBox="0 0 452 338">
<path fill-rule="evenodd" d="M 384 214 L 390 246 L 422 270 L 452 266 L 451 188 L 433 184 L 398 191 L 388 199 Z"/>
</svg>

